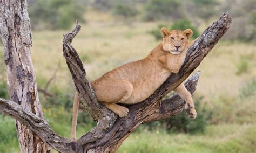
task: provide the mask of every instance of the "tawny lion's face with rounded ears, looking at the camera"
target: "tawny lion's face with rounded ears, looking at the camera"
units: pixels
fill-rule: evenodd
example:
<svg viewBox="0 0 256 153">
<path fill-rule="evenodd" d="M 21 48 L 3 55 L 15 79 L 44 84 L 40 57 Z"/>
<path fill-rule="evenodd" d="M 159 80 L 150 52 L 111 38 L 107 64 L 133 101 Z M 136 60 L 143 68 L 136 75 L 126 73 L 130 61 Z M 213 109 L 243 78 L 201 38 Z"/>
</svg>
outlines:
<svg viewBox="0 0 256 153">
<path fill-rule="evenodd" d="M 188 40 L 193 34 L 191 29 L 186 29 L 184 31 L 180 30 L 167 30 L 166 27 L 161 29 L 161 34 L 163 36 L 163 49 L 172 54 L 180 54 L 184 51 Z"/>
</svg>

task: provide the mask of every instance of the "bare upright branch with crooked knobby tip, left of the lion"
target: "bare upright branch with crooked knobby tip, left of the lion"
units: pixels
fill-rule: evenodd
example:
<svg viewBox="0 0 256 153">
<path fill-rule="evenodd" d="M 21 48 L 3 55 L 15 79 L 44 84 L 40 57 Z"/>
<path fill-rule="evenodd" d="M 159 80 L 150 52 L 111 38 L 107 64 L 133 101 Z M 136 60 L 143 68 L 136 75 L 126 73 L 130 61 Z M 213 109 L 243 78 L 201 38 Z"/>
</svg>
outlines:
<svg viewBox="0 0 256 153">
<path fill-rule="evenodd" d="M 102 103 L 98 102 L 95 92 L 85 77 L 86 72 L 83 67 L 83 62 L 79 58 L 75 48 L 70 44 L 72 39 L 75 38 L 76 34 L 79 32 L 80 28 L 81 26 L 77 24 L 75 29 L 71 33 L 64 34 L 63 38 L 63 54 L 75 82 L 80 103 L 84 105 L 87 112 L 90 113 L 95 121 L 104 119 L 106 116 L 111 116 L 111 120 L 114 121 L 116 119 L 116 115 L 103 106 Z"/>
</svg>

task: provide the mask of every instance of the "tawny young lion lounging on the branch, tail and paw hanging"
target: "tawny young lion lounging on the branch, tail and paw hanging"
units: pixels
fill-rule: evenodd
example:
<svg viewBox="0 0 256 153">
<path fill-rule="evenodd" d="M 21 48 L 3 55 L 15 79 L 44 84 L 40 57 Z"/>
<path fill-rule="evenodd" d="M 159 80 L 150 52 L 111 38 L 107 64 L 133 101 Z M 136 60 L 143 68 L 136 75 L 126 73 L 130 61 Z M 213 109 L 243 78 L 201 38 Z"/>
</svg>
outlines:
<svg viewBox="0 0 256 153">
<path fill-rule="evenodd" d="M 183 65 L 188 43 L 193 32 L 191 29 L 184 31 L 161 29 L 163 41 L 154 48 L 146 58 L 119 66 L 102 77 L 91 82 L 96 96 L 107 108 L 119 117 L 129 113 L 129 109 L 117 103 L 134 104 L 149 97 L 171 75 L 177 73 Z M 191 94 L 184 84 L 173 90 L 185 100 L 185 110 L 194 119 L 197 112 Z M 71 138 L 76 140 L 76 123 L 78 111 L 77 93 L 74 98 L 73 121 Z"/>
</svg>

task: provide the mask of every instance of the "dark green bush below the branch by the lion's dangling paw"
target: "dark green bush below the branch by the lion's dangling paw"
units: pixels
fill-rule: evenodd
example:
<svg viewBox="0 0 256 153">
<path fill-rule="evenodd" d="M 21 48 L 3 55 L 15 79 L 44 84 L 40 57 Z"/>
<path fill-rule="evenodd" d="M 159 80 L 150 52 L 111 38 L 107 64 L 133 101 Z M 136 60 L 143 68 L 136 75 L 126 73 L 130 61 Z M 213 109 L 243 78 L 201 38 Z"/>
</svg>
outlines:
<svg viewBox="0 0 256 153">
<path fill-rule="evenodd" d="M 197 110 L 197 118 L 192 120 L 185 111 L 181 114 L 171 117 L 170 119 L 147 123 L 146 126 L 152 130 L 156 127 L 164 128 L 166 131 L 181 131 L 185 133 L 197 133 L 204 132 L 207 126 L 207 120 L 211 119 L 213 112 L 208 112 L 205 106 L 200 105 L 200 101 L 203 98 L 199 98 L 194 101 L 194 105 Z"/>
</svg>

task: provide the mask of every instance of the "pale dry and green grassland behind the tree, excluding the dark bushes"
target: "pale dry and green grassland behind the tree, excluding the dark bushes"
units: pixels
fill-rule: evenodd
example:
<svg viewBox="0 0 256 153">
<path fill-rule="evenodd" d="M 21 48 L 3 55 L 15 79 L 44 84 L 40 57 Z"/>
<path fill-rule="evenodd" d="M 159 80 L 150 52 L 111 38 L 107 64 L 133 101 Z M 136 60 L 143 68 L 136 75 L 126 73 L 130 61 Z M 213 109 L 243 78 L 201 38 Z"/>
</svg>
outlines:
<svg viewBox="0 0 256 153">
<path fill-rule="evenodd" d="M 108 19 L 107 15 L 91 19 L 93 22 L 82 25 L 72 43 L 84 62 L 89 80 L 126 62 L 144 58 L 160 43 L 148 33 L 158 23 L 126 25 Z M 38 86 L 42 88 L 60 65 L 50 91 L 65 93 L 72 99 L 75 87 L 62 55 L 65 32 L 33 32 L 32 60 Z M 195 97 L 204 96 L 203 104 L 213 111 L 205 132 L 167 133 L 163 129 L 140 128 L 124 141 L 118 152 L 256 152 L 255 59 L 255 44 L 220 40 L 197 68 L 201 76 Z M 40 98 L 43 106 L 48 105 L 42 94 Z M 58 104 L 44 107 L 44 114 L 53 130 L 70 136 L 70 111 L 65 112 Z M 0 120 L 0 152 L 19 152 L 15 121 L 3 115 Z M 78 124 L 77 137 L 91 127 Z"/>
</svg>

